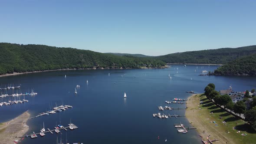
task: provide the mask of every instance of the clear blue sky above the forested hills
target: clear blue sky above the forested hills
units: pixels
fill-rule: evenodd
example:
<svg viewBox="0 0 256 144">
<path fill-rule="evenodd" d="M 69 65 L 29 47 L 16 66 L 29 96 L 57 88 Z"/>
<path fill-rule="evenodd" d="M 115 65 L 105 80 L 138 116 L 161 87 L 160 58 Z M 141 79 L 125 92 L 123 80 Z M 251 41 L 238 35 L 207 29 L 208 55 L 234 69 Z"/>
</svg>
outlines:
<svg viewBox="0 0 256 144">
<path fill-rule="evenodd" d="M 256 1 L 1 0 L 0 42 L 151 56 L 256 45 Z"/>
</svg>

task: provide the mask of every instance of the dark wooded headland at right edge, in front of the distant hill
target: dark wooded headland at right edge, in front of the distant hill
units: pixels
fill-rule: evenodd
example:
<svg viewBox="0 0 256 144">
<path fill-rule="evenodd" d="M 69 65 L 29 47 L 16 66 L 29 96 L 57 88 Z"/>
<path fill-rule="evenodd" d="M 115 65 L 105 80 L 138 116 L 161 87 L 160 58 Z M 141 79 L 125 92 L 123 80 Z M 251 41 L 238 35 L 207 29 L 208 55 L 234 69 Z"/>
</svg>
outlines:
<svg viewBox="0 0 256 144">
<path fill-rule="evenodd" d="M 214 71 L 214 75 L 254 75 L 256 76 L 256 54 L 244 56 L 223 65 Z"/>
</svg>

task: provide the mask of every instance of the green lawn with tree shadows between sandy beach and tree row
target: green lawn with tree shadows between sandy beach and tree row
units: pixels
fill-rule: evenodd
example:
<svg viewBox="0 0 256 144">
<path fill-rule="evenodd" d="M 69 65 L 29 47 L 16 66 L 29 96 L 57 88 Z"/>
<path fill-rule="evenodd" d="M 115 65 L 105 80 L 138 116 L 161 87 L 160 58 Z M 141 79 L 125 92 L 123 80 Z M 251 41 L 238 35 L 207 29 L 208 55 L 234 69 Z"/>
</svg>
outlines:
<svg viewBox="0 0 256 144">
<path fill-rule="evenodd" d="M 200 115 L 209 115 L 209 118 L 205 119 L 205 121 L 213 125 L 215 124 L 210 123 L 210 121 L 215 121 L 218 131 L 223 131 L 223 136 L 233 139 L 236 144 L 256 144 L 256 132 L 253 131 L 249 124 L 217 107 L 205 95 L 197 95 L 197 97 L 199 97 L 200 101 L 203 101 L 203 104 L 199 105 Z M 220 119 L 220 117 L 222 118 Z M 226 123 L 223 123 L 223 121 L 226 121 Z M 237 133 L 238 131 L 240 133 Z M 241 134 L 247 135 L 243 136 Z"/>
</svg>

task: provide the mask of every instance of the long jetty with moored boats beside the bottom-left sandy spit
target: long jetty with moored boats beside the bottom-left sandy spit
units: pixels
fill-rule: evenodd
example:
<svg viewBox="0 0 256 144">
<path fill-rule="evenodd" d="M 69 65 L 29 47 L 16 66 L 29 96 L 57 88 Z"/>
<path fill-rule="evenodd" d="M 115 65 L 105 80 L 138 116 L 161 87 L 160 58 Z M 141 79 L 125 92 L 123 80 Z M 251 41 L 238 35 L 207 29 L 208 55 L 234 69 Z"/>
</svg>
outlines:
<svg viewBox="0 0 256 144">
<path fill-rule="evenodd" d="M 43 136 L 45 136 L 45 134 L 48 133 L 48 132 L 51 133 L 51 134 L 53 134 L 53 132 L 56 132 L 56 131 L 58 131 L 58 132 L 56 132 L 56 133 L 59 133 L 59 132 L 60 132 L 59 130 L 63 130 L 63 129 L 64 129 L 65 131 L 68 131 L 67 128 L 69 128 L 70 130 L 74 130 L 74 129 L 77 129 L 78 127 L 77 127 L 75 124 L 68 124 L 67 127 L 63 127 L 63 128 L 54 127 L 54 128 L 55 128 L 55 129 L 53 129 L 53 130 L 50 130 L 49 128 L 47 128 L 48 131 L 44 131 L 44 132 L 41 131 L 41 132 L 39 132 L 39 133 L 33 132 L 32 134 L 30 134 L 30 137 L 31 137 L 31 138 L 36 138 L 38 134 L 43 137 Z M 22 136 L 22 137 L 28 137 L 28 136 L 29 136 L 29 135 Z"/>
</svg>

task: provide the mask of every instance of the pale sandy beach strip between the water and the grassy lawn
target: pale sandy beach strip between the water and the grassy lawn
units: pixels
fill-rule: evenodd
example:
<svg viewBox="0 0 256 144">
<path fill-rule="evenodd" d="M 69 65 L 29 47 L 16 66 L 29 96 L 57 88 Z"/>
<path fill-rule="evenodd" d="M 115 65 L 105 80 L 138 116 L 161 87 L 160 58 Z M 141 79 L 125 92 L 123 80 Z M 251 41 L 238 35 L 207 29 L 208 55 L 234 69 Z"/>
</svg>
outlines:
<svg viewBox="0 0 256 144">
<path fill-rule="evenodd" d="M 197 95 L 192 95 L 188 98 L 187 101 L 187 110 L 186 110 L 186 118 L 193 125 L 193 127 L 197 128 L 198 137 L 202 137 L 204 141 L 207 140 L 208 137 L 210 140 L 220 139 L 220 141 L 213 142 L 214 144 L 236 144 L 233 139 L 225 137 L 224 131 L 220 130 L 219 127 L 214 126 L 214 124 L 209 124 L 210 114 L 208 111 L 204 111 L 198 109 L 200 106 L 200 98 Z M 204 132 L 203 132 L 204 131 Z"/>
</svg>

